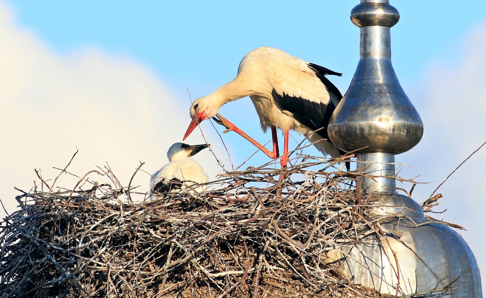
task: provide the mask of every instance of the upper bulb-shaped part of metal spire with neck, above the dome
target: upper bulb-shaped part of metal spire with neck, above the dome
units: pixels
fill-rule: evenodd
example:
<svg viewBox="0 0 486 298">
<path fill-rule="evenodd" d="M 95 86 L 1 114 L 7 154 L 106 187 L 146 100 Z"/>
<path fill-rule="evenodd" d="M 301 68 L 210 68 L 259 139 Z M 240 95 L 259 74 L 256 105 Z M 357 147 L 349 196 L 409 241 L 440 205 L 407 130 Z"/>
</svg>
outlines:
<svg viewBox="0 0 486 298">
<path fill-rule="evenodd" d="M 395 174 L 395 154 L 413 148 L 423 123 L 400 86 L 391 61 L 390 27 L 400 18 L 388 0 L 362 0 L 351 11 L 360 27 L 360 60 L 351 85 L 329 124 L 329 138 L 357 152 L 357 168 L 367 175 Z M 393 178 L 362 178 L 368 192 L 395 193 Z"/>
</svg>

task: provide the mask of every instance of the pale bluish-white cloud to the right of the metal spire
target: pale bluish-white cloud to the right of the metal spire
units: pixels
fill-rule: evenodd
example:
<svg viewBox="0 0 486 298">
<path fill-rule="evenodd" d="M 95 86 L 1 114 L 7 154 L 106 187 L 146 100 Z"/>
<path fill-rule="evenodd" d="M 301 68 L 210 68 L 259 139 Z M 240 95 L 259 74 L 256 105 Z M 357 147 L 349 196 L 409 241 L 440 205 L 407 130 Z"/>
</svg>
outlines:
<svg viewBox="0 0 486 298">
<path fill-rule="evenodd" d="M 466 50 L 461 51 L 464 56 L 459 63 L 447 58 L 435 61 L 420 86 L 407 90 L 424 122 L 424 137 L 417 147 L 398 156 L 397 161 L 414 167 L 404 171 L 408 176 L 420 175 L 421 181 L 436 180 L 414 191 L 419 202 L 427 199 L 456 166 L 486 141 L 486 26 L 476 28 L 462 46 Z M 486 269 L 485 168 L 486 146 L 438 190 L 444 197 L 436 211 L 448 210 L 433 214 L 468 229 L 461 234 L 483 270 Z"/>
</svg>

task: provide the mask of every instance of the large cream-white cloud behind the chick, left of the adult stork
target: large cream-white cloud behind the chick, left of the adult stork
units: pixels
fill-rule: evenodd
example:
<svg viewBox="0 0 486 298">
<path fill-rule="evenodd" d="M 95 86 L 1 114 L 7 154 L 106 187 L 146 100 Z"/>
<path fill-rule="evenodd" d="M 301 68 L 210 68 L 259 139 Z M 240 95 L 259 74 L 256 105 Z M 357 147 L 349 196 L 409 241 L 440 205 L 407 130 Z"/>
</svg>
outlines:
<svg viewBox="0 0 486 298">
<path fill-rule="evenodd" d="M 179 104 L 149 69 L 96 49 L 53 53 L 2 3 L 0 44 L 0 193 L 8 211 L 20 194 L 14 186 L 28 191 L 38 183 L 34 168 L 55 178 L 52 167 L 64 168 L 76 148 L 69 172 L 84 175 L 108 162 L 127 186 L 139 161 L 150 173 L 167 162 L 167 149 L 189 125 L 189 103 Z M 188 141 L 203 143 L 198 135 Z M 208 151 L 195 158 L 210 176 L 217 173 Z M 69 178 L 56 185 L 72 188 L 78 179 Z M 139 173 L 132 185 L 145 192 L 148 180 Z"/>
</svg>

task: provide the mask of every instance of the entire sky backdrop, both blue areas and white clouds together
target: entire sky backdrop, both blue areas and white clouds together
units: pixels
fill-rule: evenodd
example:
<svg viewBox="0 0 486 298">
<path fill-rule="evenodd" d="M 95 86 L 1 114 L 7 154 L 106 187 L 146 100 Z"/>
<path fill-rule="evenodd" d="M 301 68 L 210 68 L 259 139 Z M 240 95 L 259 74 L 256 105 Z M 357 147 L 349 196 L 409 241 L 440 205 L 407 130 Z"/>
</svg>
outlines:
<svg viewBox="0 0 486 298">
<path fill-rule="evenodd" d="M 13 185 L 30 189 L 34 168 L 55 177 L 52 167 L 63 168 L 76 148 L 70 169 L 78 175 L 105 161 L 122 181 L 139 160 L 155 172 L 189 125 L 186 89 L 192 99 L 207 95 L 262 45 L 344 73 L 332 78 L 344 93 L 358 62 L 359 29 L 349 20 L 358 2 L 0 0 L 0 104 L 9 111 L 0 119 L 7 127 L 0 136 L 7 152 L 0 157 L 0 191 L 13 197 Z M 421 202 L 486 140 L 486 1 L 391 4 L 401 16 L 391 30 L 393 65 L 425 125 L 422 141 L 397 156 L 413 166 L 400 174 L 437 181 L 417 187 L 414 198 Z M 271 139 L 248 99 L 221 113 L 256 140 Z M 201 126 L 224 154 L 210 124 Z M 255 151 L 239 136 L 223 137 L 235 163 Z M 195 130 L 187 141 L 203 140 Z M 462 235 L 481 268 L 486 195 L 478 189 L 485 152 L 439 191 L 440 208 L 448 209 L 439 216 L 468 229 Z M 196 158 L 214 176 L 214 160 L 204 154 Z M 258 153 L 248 165 L 266 161 Z M 148 175 L 140 185 L 148 185 Z M 6 203 L 7 210 L 16 206 Z"/>
</svg>

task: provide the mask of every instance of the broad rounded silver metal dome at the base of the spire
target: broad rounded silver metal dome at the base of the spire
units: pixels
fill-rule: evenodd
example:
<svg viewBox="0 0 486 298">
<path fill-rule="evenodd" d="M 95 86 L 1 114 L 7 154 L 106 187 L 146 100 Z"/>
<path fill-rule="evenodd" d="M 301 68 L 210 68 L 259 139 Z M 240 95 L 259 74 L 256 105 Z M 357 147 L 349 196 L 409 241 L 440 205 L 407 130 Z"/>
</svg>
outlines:
<svg viewBox="0 0 486 298">
<path fill-rule="evenodd" d="M 355 284 L 382 294 L 398 292 L 405 296 L 428 293 L 452 283 L 451 297 L 483 297 L 476 259 L 456 231 L 424 218 L 420 206 L 409 197 L 370 195 L 383 205 L 376 208 L 375 219 L 391 218 L 381 224 L 385 236 L 380 240 L 371 234 L 345 252 L 343 273 Z M 438 294 L 428 297 L 442 297 Z"/>
</svg>

